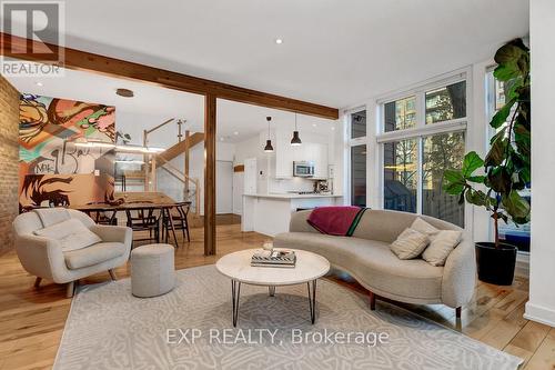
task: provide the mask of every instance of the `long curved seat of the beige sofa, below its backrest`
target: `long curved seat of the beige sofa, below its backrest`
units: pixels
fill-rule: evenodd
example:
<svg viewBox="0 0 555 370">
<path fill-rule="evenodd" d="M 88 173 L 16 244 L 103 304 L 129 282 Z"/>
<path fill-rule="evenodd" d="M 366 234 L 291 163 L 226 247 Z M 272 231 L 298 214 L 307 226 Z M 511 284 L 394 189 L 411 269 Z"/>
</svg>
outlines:
<svg viewBox="0 0 555 370">
<path fill-rule="evenodd" d="M 369 289 L 392 299 L 441 300 L 443 267 L 422 259 L 400 260 L 390 243 L 312 232 L 286 232 L 274 238 L 274 247 L 302 249 L 351 272 Z"/>
</svg>

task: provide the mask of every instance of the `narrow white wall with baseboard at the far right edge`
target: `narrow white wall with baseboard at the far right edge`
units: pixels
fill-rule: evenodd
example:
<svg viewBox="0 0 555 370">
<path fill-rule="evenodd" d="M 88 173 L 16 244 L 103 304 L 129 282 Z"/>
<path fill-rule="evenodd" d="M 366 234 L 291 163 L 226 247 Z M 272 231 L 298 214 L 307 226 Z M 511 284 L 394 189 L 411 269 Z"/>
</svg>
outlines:
<svg viewBox="0 0 555 370">
<path fill-rule="evenodd" d="M 525 318 L 555 327 L 555 244 L 553 210 L 553 89 L 555 87 L 555 1 L 531 1 L 532 53 L 532 246 L 529 301 Z"/>
</svg>

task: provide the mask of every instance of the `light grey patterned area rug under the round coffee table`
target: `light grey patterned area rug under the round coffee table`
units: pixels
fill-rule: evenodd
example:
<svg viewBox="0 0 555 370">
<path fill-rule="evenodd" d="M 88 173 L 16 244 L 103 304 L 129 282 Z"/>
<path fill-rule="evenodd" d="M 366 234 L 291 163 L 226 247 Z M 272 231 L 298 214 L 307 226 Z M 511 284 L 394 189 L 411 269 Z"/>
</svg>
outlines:
<svg viewBox="0 0 555 370">
<path fill-rule="evenodd" d="M 395 306 L 319 280 L 317 321 L 306 286 L 241 287 L 214 266 L 176 272 L 165 296 L 141 299 L 124 279 L 73 299 L 54 363 L 77 369 L 516 369 L 521 359 Z"/>
</svg>

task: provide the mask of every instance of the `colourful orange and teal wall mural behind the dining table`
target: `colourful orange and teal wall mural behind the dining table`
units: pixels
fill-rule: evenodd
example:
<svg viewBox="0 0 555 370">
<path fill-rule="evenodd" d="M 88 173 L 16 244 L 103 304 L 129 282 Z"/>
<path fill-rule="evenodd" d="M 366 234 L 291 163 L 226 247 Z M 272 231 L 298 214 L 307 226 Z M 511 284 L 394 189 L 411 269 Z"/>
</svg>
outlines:
<svg viewBox="0 0 555 370">
<path fill-rule="evenodd" d="M 114 107 L 21 96 L 20 208 L 80 204 L 113 196 L 113 151 L 77 147 L 79 138 L 114 142 Z"/>
</svg>

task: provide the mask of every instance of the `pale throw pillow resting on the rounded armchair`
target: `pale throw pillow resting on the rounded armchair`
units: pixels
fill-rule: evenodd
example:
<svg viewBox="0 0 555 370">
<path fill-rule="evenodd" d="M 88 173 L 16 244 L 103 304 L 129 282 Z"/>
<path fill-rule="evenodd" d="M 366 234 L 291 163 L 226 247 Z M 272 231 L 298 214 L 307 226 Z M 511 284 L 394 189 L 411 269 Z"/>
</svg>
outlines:
<svg viewBox="0 0 555 370">
<path fill-rule="evenodd" d="M 33 233 L 39 237 L 58 240 L 63 252 L 85 248 L 102 241 L 99 236 L 77 219 L 69 219 L 48 228 L 36 230 Z"/>
</svg>

